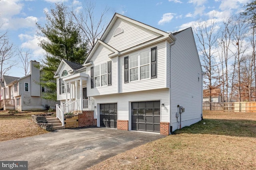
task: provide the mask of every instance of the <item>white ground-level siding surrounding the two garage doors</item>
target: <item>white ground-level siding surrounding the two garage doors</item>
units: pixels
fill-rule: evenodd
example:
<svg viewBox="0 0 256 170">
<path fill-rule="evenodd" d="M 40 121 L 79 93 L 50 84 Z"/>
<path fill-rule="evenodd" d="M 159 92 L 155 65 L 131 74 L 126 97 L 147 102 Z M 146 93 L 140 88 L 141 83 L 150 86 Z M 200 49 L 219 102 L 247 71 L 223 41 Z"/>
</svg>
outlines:
<svg viewBox="0 0 256 170">
<path fill-rule="evenodd" d="M 160 100 L 161 103 L 164 103 L 164 107 L 161 106 L 161 122 L 169 122 L 169 89 L 159 89 L 159 90 L 150 90 L 142 92 L 130 92 L 125 94 L 112 94 L 104 96 L 95 96 L 93 97 L 94 106 L 94 118 L 97 118 L 97 111 L 99 107 L 98 104 L 104 103 L 117 103 L 118 111 L 118 120 L 129 120 L 129 129 L 131 128 L 131 111 L 130 103 L 131 102 L 143 102 L 143 101 L 155 101 Z M 98 117 L 99 119 L 99 117 Z M 98 120 L 97 119 L 97 120 Z M 99 125 L 99 124 L 98 124 Z"/>
</svg>

